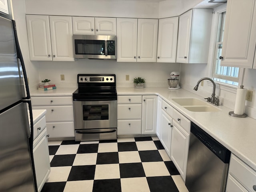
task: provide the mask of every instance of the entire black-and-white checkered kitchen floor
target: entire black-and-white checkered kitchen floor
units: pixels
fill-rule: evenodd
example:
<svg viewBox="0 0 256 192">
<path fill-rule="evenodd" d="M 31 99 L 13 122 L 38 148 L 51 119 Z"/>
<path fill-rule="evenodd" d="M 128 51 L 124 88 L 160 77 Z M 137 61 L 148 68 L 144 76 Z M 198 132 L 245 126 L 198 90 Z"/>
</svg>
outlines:
<svg viewBox="0 0 256 192">
<path fill-rule="evenodd" d="M 157 137 L 48 143 L 42 192 L 188 192 Z"/>
</svg>

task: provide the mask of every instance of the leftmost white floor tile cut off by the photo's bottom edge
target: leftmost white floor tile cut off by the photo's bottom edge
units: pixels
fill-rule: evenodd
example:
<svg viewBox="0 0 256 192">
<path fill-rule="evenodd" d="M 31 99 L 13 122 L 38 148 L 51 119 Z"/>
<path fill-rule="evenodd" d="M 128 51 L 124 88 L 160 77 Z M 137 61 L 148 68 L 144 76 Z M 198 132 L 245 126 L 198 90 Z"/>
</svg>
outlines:
<svg viewBox="0 0 256 192">
<path fill-rule="evenodd" d="M 92 192 L 93 180 L 68 181 L 64 192 Z"/>
</svg>

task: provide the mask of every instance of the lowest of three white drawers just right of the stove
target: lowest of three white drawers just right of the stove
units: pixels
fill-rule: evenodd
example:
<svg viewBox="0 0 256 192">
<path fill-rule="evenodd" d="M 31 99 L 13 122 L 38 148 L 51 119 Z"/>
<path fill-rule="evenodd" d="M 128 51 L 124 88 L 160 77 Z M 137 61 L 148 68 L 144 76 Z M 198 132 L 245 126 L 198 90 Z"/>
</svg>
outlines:
<svg viewBox="0 0 256 192">
<path fill-rule="evenodd" d="M 141 120 L 118 120 L 117 134 L 141 134 Z"/>
</svg>

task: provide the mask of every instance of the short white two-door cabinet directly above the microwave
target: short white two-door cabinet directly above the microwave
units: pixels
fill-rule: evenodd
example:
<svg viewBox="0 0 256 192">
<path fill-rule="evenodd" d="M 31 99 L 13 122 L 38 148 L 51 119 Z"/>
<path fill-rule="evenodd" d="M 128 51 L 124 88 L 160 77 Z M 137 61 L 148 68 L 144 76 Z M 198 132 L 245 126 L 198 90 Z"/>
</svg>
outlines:
<svg viewBox="0 0 256 192">
<path fill-rule="evenodd" d="M 116 35 L 116 18 L 72 17 L 73 34 Z"/>
</svg>

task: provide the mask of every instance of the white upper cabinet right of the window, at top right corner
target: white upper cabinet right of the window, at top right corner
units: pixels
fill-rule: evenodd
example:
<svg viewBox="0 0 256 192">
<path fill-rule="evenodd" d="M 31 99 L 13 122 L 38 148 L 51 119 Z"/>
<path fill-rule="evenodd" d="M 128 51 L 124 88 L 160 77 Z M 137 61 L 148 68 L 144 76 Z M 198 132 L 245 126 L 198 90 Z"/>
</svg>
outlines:
<svg viewBox="0 0 256 192">
<path fill-rule="evenodd" d="M 252 68 L 256 45 L 255 10 L 255 0 L 227 2 L 222 66 Z"/>
</svg>

